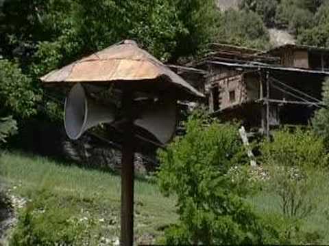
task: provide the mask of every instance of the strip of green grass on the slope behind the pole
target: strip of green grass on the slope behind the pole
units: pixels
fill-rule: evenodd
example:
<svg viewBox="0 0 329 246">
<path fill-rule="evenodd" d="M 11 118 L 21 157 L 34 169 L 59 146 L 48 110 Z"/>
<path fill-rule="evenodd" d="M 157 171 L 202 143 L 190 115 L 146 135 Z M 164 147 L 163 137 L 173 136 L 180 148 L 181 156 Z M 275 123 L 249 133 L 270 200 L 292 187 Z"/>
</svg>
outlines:
<svg viewBox="0 0 329 246">
<path fill-rule="evenodd" d="M 36 191 L 49 191 L 62 206 L 76 210 L 77 216 L 88 214 L 105 219 L 97 233 L 108 237 L 119 236 L 119 176 L 10 152 L 0 156 L 0 173 L 1 180 L 8 187 L 16 187 L 16 195 L 37 200 Z M 141 238 L 138 241 L 160 236 L 163 228 L 175 223 L 177 218 L 175 201 L 163 197 L 156 184 L 135 181 L 134 228 L 137 238 Z"/>
</svg>

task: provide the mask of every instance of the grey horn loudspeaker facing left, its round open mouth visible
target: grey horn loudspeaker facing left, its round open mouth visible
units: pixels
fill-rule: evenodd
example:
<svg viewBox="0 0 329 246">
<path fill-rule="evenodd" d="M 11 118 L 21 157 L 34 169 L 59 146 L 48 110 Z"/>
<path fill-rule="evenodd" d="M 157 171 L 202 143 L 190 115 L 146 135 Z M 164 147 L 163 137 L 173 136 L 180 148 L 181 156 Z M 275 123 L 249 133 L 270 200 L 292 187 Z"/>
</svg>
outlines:
<svg viewBox="0 0 329 246">
<path fill-rule="evenodd" d="M 71 89 L 64 107 L 64 127 L 70 139 L 76 140 L 89 128 L 101 123 L 112 123 L 114 120 L 114 107 L 99 105 L 87 98 L 80 83 Z"/>
</svg>

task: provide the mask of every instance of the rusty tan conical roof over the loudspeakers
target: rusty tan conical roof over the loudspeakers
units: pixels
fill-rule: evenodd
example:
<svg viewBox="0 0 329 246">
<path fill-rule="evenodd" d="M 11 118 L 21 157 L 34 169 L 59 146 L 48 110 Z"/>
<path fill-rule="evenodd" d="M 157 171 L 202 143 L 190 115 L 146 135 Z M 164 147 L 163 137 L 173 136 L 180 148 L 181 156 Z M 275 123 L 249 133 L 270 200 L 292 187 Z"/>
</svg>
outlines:
<svg viewBox="0 0 329 246">
<path fill-rule="evenodd" d="M 43 83 L 108 83 L 114 81 L 125 83 L 125 81 L 129 81 L 136 87 L 142 86 L 145 81 L 145 84 L 152 89 L 161 87 L 157 83 L 169 83 L 175 85 L 169 86 L 171 90 L 184 90 L 189 96 L 204 97 L 202 93 L 195 90 L 161 61 L 140 49 L 132 40 L 114 44 L 59 70 L 53 70 L 40 79 Z M 143 86 L 145 87 L 145 85 Z M 166 87 L 168 88 L 168 86 Z"/>
</svg>

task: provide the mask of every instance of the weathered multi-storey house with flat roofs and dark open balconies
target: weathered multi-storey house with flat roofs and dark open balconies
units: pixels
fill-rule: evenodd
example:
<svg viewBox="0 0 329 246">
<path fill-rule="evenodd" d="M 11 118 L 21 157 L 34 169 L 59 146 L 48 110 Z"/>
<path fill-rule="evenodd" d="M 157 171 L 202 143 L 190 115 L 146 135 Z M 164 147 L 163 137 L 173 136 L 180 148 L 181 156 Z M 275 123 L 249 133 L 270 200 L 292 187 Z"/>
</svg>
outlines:
<svg viewBox="0 0 329 246">
<path fill-rule="evenodd" d="M 305 125 L 322 107 L 321 87 L 329 77 L 329 50 L 286 44 L 257 51 L 226 44 L 187 66 L 205 70 L 202 81 L 209 111 L 239 120 L 269 135 L 282 124 Z"/>
</svg>

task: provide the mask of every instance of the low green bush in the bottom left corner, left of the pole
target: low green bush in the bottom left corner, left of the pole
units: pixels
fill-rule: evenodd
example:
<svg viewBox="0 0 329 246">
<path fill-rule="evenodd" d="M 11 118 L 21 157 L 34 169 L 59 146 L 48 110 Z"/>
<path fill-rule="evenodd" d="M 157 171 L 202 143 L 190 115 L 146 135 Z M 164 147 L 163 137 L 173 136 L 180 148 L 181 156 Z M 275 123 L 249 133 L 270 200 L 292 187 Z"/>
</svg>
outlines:
<svg viewBox="0 0 329 246">
<path fill-rule="evenodd" d="M 69 206 L 62 206 L 55 194 L 38 191 L 21 210 L 10 245 L 86 245 L 86 242 L 97 245 L 98 238 L 91 236 L 97 223 L 76 214 Z"/>
</svg>

